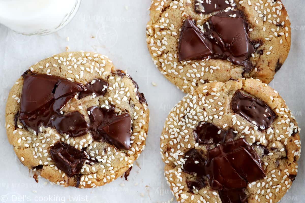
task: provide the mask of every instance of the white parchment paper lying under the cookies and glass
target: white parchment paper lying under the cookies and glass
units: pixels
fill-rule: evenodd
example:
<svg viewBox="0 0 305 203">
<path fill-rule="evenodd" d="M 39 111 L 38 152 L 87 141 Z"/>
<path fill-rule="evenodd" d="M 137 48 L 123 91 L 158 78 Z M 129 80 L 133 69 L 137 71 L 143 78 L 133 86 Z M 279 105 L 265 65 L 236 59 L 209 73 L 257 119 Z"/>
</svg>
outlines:
<svg viewBox="0 0 305 203">
<path fill-rule="evenodd" d="M 0 0 L 1 1 L 1 0 Z M 305 2 L 282 0 L 292 22 L 288 59 L 270 85 L 285 99 L 300 128 L 305 130 Z M 59 5 L 60 6 L 60 5 Z M 127 7 L 126 7 L 127 6 Z M 84 0 L 75 18 L 57 33 L 27 37 L 0 25 L 0 202 L 167 202 L 173 198 L 163 176 L 160 134 L 170 109 L 184 96 L 153 65 L 146 46 L 145 28 L 150 0 Z M 128 8 L 128 9 L 127 9 Z M 56 12 L 56 11 L 54 11 Z M 69 41 L 66 40 L 69 37 Z M 5 103 L 10 88 L 35 62 L 66 51 L 96 51 L 127 69 L 145 94 L 150 124 L 145 151 L 135 162 L 128 181 L 118 178 L 93 189 L 63 188 L 44 178 L 36 183 L 33 173 L 16 158 L 5 133 Z M 152 85 L 156 83 L 156 86 Z M 301 140 L 305 143 L 301 131 Z M 281 202 L 305 200 L 304 153 L 299 172 Z M 175 202 L 175 200 L 173 201 Z"/>
</svg>

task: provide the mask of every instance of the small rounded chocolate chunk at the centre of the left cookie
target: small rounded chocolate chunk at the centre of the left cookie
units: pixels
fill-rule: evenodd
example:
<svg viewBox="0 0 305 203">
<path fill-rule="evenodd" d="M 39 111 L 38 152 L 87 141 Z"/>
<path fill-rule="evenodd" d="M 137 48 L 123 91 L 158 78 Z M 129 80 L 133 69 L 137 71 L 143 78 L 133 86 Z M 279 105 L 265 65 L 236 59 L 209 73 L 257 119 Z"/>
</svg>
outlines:
<svg viewBox="0 0 305 203">
<path fill-rule="evenodd" d="M 89 127 L 84 116 L 79 112 L 72 112 L 61 117 L 56 117 L 51 122 L 52 126 L 60 134 L 67 134 L 70 137 L 79 137 L 86 134 Z"/>
</svg>

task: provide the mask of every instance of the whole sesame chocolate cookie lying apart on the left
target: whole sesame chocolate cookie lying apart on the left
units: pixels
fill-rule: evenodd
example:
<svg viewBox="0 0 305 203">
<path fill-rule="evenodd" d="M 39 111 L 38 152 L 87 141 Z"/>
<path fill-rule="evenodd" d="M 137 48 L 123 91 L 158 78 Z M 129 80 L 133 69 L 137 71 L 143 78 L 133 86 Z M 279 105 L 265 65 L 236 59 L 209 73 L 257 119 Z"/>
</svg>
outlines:
<svg viewBox="0 0 305 203">
<path fill-rule="evenodd" d="M 92 52 L 36 63 L 6 105 L 7 136 L 21 163 L 61 186 L 91 188 L 128 175 L 148 123 L 138 84 Z"/>
</svg>

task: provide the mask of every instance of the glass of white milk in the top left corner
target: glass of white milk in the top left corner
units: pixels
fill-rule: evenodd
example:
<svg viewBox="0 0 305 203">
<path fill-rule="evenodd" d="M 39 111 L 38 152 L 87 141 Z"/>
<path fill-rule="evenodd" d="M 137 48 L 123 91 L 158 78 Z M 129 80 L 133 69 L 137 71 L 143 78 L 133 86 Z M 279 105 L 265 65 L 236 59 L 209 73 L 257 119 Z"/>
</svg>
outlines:
<svg viewBox="0 0 305 203">
<path fill-rule="evenodd" d="M 0 0 L 0 24 L 24 35 L 46 35 L 66 26 L 81 0 Z"/>
</svg>

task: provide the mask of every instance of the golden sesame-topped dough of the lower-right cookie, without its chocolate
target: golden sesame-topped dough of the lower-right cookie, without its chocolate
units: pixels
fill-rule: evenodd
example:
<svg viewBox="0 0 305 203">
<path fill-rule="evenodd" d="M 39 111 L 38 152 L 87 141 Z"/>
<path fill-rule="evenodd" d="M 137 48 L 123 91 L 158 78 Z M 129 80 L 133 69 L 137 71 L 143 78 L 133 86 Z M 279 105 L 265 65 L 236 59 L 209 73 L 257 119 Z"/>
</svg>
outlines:
<svg viewBox="0 0 305 203">
<path fill-rule="evenodd" d="M 273 110 L 276 116 L 268 129 L 259 131 L 257 126 L 231 110 L 231 99 L 239 90 L 262 100 Z M 237 131 L 234 139 L 246 139 L 260 156 L 267 176 L 248 184 L 248 202 L 278 202 L 296 177 L 301 152 L 300 128 L 282 97 L 265 83 L 242 79 L 206 83 L 176 104 L 166 118 L 160 151 L 165 178 L 178 202 L 221 203 L 219 191 L 209 184 L 194 193 L 186 184 L 192 176 L 183 169 L 185 153 L 195 148 L 207 159 L 207 149 L 215 147 L 215 144 L 196 143 L 193 132 L 203 121 L 223 130 L 233 128 Z"/>
</svg>

